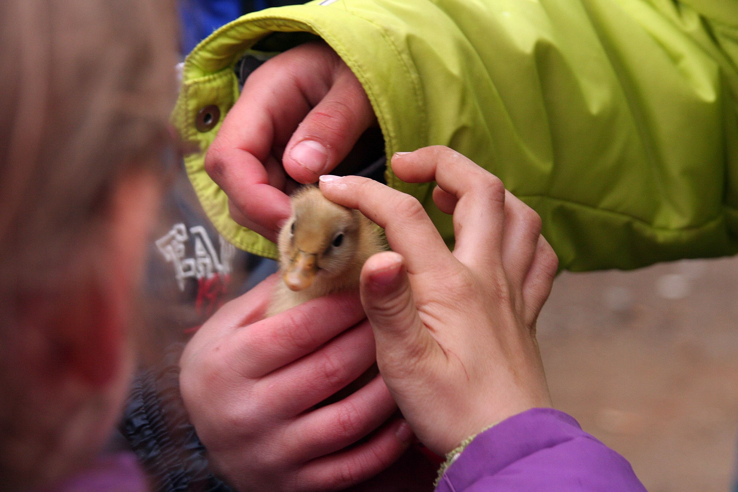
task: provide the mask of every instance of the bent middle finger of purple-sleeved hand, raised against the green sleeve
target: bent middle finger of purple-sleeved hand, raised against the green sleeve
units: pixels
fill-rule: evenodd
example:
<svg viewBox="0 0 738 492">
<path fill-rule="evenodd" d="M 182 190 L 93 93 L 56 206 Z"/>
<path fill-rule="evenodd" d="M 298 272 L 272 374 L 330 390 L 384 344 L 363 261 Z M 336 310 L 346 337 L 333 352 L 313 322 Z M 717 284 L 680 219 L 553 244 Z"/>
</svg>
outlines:
<svg viewBox="0 0 738 492">
<path fill-rule="evenodd" d="M 392 169 L 410 183 L 435 181 L 458 198 L 454 209 L 454 256 L 466 265 L 501 261 L 505 187 L 502 181 L 455 150 L 426 147 L 395 154 Z"/>
</svg>

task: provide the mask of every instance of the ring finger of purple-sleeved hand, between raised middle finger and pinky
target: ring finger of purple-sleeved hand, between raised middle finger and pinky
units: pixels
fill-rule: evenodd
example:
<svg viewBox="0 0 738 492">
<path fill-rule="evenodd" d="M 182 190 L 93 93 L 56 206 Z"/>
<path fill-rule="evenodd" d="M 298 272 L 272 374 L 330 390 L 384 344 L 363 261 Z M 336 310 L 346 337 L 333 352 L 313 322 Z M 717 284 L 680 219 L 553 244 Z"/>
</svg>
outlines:
<svg viewBox="0 0 738 492">
<path fill-rule="evenodd" d="M 531 269 L 541 238 L 541 218 L 512 193 L 505 200 L 505 234 L 503 236 L 503 267 L 516 291 Z"/>
</svg>

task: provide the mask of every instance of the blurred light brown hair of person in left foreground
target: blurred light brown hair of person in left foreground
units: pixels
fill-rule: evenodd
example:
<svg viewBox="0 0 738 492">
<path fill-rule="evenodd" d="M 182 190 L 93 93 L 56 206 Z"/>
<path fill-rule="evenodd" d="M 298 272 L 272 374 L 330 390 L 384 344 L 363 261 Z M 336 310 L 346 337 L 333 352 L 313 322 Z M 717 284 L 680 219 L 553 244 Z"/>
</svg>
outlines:
<svg viewBox="0 0 738 492">
<path fill-rule="evenodd" d="M 24 415 L 33 390 L 18 378 L 17 314 L 23 299 L 43 302 L 74 282 L 117 181 L 158 162 L 176 95 L 174 12 L 165 0 L 0 1 L 3 490 L 22 460 L 13 443 L 52 423 Z"/>
</svg>

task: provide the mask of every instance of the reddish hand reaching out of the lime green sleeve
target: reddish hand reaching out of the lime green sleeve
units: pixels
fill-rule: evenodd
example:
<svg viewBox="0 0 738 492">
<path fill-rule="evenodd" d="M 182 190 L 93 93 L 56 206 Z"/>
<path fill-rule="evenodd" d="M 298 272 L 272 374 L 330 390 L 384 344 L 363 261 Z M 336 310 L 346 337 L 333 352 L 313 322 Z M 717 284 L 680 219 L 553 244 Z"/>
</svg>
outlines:
<svg viewBox="0 0 738 492">
<path fill-rule="evenodd" d="M 230 198 L 232 218 L 276 240 L 290 213 L 285 171 L 314 183 L 374 124 L 351 69 L 327 44 L 303 44 L 249 75 L 207 151 L 205 169 Z"/>
</svg>

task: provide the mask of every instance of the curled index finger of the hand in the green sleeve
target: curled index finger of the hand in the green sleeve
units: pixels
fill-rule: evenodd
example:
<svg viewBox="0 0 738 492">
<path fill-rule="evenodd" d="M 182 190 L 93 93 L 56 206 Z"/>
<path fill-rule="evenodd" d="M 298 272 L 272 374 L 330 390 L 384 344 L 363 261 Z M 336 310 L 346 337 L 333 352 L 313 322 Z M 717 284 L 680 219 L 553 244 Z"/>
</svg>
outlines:
<svg viewBox="0 0 738 492">
<path fill-rule="evenodd" d="M 336 57 L 327 46 L 306 44 L 264 63 L 246 80 L 207 151 L 210 178 L 269 240 L 290 215 L 289 198 L 267 169 L 272 152 L 286 145 L 328 92 L 328 69 Z"/>
</svg>

